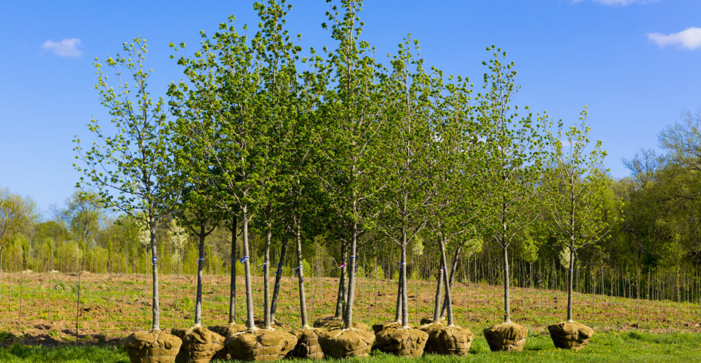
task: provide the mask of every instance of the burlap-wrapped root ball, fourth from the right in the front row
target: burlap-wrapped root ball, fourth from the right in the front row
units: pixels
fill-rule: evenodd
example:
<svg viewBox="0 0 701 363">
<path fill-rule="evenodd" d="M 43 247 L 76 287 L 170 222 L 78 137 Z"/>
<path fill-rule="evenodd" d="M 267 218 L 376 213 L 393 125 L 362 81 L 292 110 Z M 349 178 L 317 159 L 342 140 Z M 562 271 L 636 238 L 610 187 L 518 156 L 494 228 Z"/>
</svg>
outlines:
<svg viewBox="0 0 701 363">
<path fill-rule="evenodd" d="M 428 333 L 411 327 L 390 326 L 375 334 L 377 349 L 404 357 L 421 357 Z"/>
</svg>

